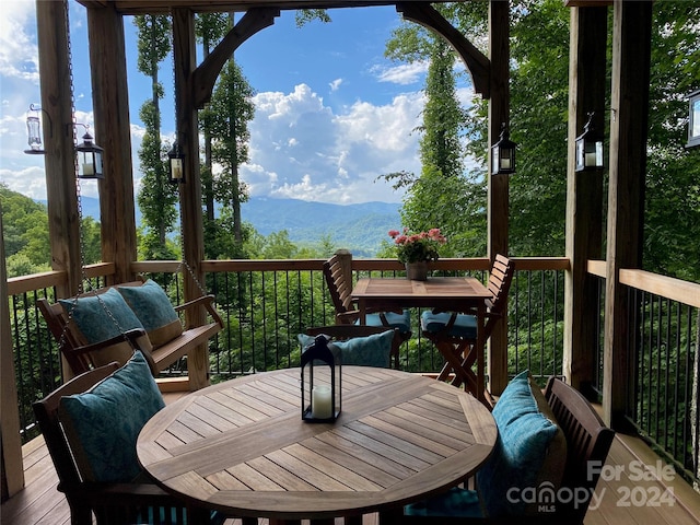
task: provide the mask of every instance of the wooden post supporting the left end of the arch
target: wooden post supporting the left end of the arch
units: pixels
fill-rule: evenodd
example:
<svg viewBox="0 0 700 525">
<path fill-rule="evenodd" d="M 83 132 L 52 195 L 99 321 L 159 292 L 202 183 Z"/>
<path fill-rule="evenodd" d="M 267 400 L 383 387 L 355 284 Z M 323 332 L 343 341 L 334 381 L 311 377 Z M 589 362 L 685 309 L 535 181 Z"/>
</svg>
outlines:
<svg viewBox="0 0 700 525">
<path fill-rule="evenodd" d="M 192 94 L 192 71 L 197 63 L 195 13 L 188 8 L 173 9 L 173 62 L 175 68 L 175 126 L 177 140 L 185 152 L 185 172 L 187 174 L 187 182 L 179 185 L 179 212 L 183 259 L 191 269 L 191 273 L 189 270 L 183 269 L 185 299 L 189 301 L 201 295 L 197 281 L 203 282 L 201 262 L 205 258 L 205 242 L 197 107 Z M 187 313 L 187 326 L 199 325 L 205 320 L 203 312 Z M 191 390 L 209 384 L 209 349 L 206 342 L 189 352 L 187 374 Z"/>
</svg>

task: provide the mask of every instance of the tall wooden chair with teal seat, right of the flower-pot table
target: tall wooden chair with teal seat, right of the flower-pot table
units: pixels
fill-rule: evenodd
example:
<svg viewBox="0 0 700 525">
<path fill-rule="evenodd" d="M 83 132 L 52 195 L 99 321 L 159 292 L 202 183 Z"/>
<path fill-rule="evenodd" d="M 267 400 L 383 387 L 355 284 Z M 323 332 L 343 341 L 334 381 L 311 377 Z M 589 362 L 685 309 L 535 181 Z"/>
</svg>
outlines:
<svg viewBox="0 0 700 525">
<path fill-rule="evenodd" d="M 487 301 L 486 325 L 483 327 L 487 341 L 493 331 L 493 327 L 505 314 L 508 293 L 514 275 L 514 264 L 503 255 L 497 255 L 489 276 L 488 289 L 492 299 Z M 460 386 L 465 381 L 465 388 L 477 395 L 477 376 L 472 371 L 477 354 L 474 351 L 477 339 L 477 318 L 474 312 L 436 312 L 425 311 L 421 315 L 421 330 L 427 339 L 440 348 L 443 355 L 448 352 L 462 361 L 462 370 L 466 372 L 466 378 L 462 373 L 453 370 L 450 361 L 446 361 L 438 380 L 446 381 L 454 373 L 452 383 Z M 482 370 L 477 373 L 483 374 Z M 486 383 L 483 383 L 486 384 Z M 477 396 L 478 397 L 478 396 Z"/>
</svg>

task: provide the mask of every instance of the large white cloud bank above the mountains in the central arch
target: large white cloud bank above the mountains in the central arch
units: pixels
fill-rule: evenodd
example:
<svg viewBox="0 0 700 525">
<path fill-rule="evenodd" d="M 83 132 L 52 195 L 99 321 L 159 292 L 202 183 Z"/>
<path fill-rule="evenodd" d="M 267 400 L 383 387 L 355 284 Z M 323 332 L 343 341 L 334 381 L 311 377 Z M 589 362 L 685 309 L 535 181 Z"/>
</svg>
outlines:
<svg viewBox="0 0 700 525">
<path fill-rule="evenodd" d="M 418 93 L 383 106 L 357 102 L 338 115 L 306 84 L 289 94 L 260 93 L 254 102 L 249 162 L 241 170 L 253 196 L 398 202 L 402 195 L 375 179 L 420 170 L 412 133 L 423 104 Z"/>
</svg>

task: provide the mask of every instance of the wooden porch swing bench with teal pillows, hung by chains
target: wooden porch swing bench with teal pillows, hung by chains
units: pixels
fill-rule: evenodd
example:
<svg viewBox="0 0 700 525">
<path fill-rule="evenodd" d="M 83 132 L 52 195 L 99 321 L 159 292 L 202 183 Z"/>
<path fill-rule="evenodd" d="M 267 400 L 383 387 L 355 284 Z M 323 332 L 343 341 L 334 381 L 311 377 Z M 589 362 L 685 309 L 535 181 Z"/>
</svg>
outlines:
<svg viewBox="0 0 700 525">
<path fill-rule="evenodd" d="M 135 307 L 135 302 L 122 301 L 121 292 L 118 293 L 117 289 L 127 289 L 126 293 L 129 295 L 126 296 L 137 298 L 135 302 L 141 301 L 141 308 Z M 138 348 L 149 361 L 155 376 L 223 328 L 223 320 L 213 306 L 213 295 L 202 295 L 173 307 L 163 290 L 153 281 L 115 284 L 79 295 L 78 301 L 93 300 L 92 318 L 86 319 L 86 324 L 113 327 L 112 334 L 106 338 L 85 334 L 71 319 L 67 308 L 70 310 L 74 298 L 56 303 L 40 299 L 37 306 L 73 374 L 81 374 L 112 361 L 125 364 L 133 349 Z M 149 326 L 149 322 L 153 323 L 156 317 L 153 304 L 163 307 L 162 315 L 170 319 L 167 324 Z M 200 326 L 183 327 L 178 315 L 189 308 L 203 308 L 209 322 Z"/>
</svg>

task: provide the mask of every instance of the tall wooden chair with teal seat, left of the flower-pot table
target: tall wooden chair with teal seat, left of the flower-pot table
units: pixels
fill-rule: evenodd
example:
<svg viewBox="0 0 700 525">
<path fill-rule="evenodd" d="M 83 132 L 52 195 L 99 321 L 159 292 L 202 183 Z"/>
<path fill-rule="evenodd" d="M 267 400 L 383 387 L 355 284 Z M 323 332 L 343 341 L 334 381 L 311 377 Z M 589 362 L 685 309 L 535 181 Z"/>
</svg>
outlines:
<svg viewBox="0 0 700 525">
<path fill-rule="evenodd" d="M 352 301 L 352 282 L 347 279 L 338 255 L 334 255 L 324 262 L 324 277 L 336 308 L 336 324 L 359 324 L 360 312 Z M 404 341 L 411 337 L 411 318 L 408 311 L 368 312 L 364 324 L 368 326 L 398 328 Z"/>
</svg>

